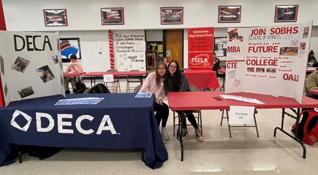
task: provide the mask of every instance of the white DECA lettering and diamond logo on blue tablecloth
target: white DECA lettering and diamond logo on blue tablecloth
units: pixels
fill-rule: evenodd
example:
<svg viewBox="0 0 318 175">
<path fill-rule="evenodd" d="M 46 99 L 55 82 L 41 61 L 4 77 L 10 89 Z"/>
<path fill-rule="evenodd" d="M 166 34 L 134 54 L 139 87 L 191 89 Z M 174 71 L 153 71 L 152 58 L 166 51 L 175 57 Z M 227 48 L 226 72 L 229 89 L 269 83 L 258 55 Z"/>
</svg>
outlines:
<svg viewBox="0 0 318 175">
<path fill-rule="evenodd" d="M 21 127 L 20 125 L 18 125 L 14 120 L 17 116 L 22 115 L 25 120 L 27 120 L 27 123 L 25 124 L 25 126 Z M 58 133 L 68 133 L 68 134 L 73 134 L 74 131 L 73 129 L 66 129 L 65 126 L 72 126 L 72 122 L 71 121 L 66 121 L 66 120 L 70 120 L 73 119 L 73 115 L 72 114 L 57 114 L 57 121 L 54 121 L 53 117 L 48 114 L 48 113 L 41 113 L 41 112 L 36 112 L 35 113 L 35 118 L 36 118 L 36 131 L 37 132 L 49 132 L 51 131 L 54 126 L 55 123 L 57 122 L 57 129 L 58 129 Z M 42 125 L 42 118 L 46 118 L 49 121 L 49 125 L 43 126 Z M 92 134 L 95 131 L 93 129 L 83 129 L 81 127 L 81 122 L 83 120 L 89 120 L 92 121 L 94 119 L 94 117 L 90 116 L 90 115 L 81 115 L 76 119 L 75 122 L 75 126 L 76 129 L 78 130 L 79 133 L 81 134 Z M 30 123 L 32 121 L 32 118 L 27 115 L 26 113 L 20 111 L 20 110 L 15 110 L 14 113 L 12 114 L 12 119 L 11 119 L 11 125 L 21 131 L 26 132 L 29 127 L 30 127 Z M 107 124 L 106 124 L 107 123 Z M 99 135 L 102 133 L 102 131 L 110 131 L 111 134 L 118 134 L 120 135 L 120 133 L 117 133 L 113 123 L 111 122 L 110 116 L 109 115 L 104 115 L 104 117 L 101 119 L 99 127 L 96 131 L 96 134 Z"/>
</svg>

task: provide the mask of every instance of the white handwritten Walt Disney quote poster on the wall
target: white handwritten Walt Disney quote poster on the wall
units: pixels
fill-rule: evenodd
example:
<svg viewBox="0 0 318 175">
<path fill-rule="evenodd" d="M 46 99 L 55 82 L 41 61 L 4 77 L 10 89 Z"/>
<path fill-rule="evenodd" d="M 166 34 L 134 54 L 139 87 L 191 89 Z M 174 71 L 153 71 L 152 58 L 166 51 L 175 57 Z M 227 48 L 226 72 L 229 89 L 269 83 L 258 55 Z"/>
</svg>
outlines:
<svg viewBox="0 0 318 175">
<path fill-rule="evenodd" d="M 145 30 L 114 31 L 115 69 L 146 71 Z"/>
</svg>

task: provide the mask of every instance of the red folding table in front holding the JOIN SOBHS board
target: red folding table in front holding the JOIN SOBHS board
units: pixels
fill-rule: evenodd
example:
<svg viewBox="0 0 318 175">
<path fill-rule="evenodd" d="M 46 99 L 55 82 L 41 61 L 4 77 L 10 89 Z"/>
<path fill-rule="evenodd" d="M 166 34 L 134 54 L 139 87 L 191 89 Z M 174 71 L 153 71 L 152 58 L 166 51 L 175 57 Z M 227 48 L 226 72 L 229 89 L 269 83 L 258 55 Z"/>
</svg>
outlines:
<svg viewBox="0 0 318 175">
<path fill-rule="evenodd" d="M 276 137 L 276 130 L 282 131 L 284 134 L 288 135 L 298 143 L 300 143 L 303 147 L 303 158 L 306 158 L 306 147 L 305 145 L 295 136 L 289 134 L 290 130 L 285 131 L 284 129 L 284 117 L 285 114 L 292 118 L 296 119 L 296 136 L 298 135 L 298 123 L 300 120 L 300 109 L 301 108 L 314 108 L 318 107 L 318 100 L 304 96 L 302 104 L 298 103 L 294 98 L 289 97 L 272 97 L 271 95 L 257 94 L 257 93 L 248 93 L 248 92 L 239 92 L 239 93 L 229 93 L 232 95 L 243 96 L 248 98 L 255 98 L 259 101 L 264 102 L 265 104 L 254 104 L 248 102 L 242 102 L 237 100 L 230 99 L 222 99 L 218 101 L 213 98 L 213 96 L 218 96 L 220 94 L 224 94 L 224 91 L 198 91 L 198 92 L 169 92 L 168 102 L 169 108 L 171 110 L 181 111 L 184 113 L 184 110 L 211 110 L 211 109 L 226 109 L 229 110 L 230 106 L 255 106 L 255 109 L 273 109 L 273 108 L 281 108 L 282 111 L 282 123 L 281 127 L 276 127 L 274 130 L 274 136 Z M 287 112 L 285 112 L 285 108 L 290 108 L 296 116 L 293 116 Z M 297 110 L 293 109 L 297 108 Z M 179 123 L 181 126 L 183 125 L 183 118 L 179 117 Z M 256 123 L 255 123 L 256 124 Z M 179 125 L 180 126 L 180 125 Z M 257 127 L 257 126 L 256 126 Z M 181 127 L 178 129 L 178 134 L 180 136 Z M 290 129 L 290 128 L 288 128 Z M 230 129 L 229 129 L 230 131 Z M 181 145 L 181 161 L 183 161 L 183 143 L 182 139 L 180 139 Z"/>
</svg>

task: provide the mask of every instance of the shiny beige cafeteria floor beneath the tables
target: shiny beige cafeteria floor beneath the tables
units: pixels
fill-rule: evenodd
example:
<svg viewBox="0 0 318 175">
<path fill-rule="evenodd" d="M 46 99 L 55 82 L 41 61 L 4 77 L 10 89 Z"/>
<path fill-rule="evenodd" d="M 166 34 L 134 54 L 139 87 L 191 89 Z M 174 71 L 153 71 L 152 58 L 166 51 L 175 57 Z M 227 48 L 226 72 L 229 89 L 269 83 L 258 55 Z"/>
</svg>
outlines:
<svg viewBox="0 0 318 175">
<path fill-rule="evenodd" d="M 126 92 L 125 81 L 120 81 L 122 92 Z M 88 80 L 85 84 L 90 87 Z M 273 137 L 274 128 L 280 125 L 281 110 L 258 110 L 256 117 L 259 138 L 255 128 L 233 128 L 230 138 L 227 125 L 220 126 L 220 110 L 202 111 L 204 142 L 198 142 L 193 128 L 188 127 L 181 162 L 179 141 L 172 136 L 170 111 L 166 127 L 170 140 L 165 144 L 169 160 L 157 170 L 145 166 L 137 151 L 63 149 L 43 161 L 25 154 L 22 164 L 17 161 L 1 167 L 0 175 L 318 175 L 318 143 L 306 145 L 307 159 L 303 159 L 302 147 L 294 140 L 280 131 Z M 285 127 L 291 128 L 294 122 L 287 117 Z"/>
</svg>

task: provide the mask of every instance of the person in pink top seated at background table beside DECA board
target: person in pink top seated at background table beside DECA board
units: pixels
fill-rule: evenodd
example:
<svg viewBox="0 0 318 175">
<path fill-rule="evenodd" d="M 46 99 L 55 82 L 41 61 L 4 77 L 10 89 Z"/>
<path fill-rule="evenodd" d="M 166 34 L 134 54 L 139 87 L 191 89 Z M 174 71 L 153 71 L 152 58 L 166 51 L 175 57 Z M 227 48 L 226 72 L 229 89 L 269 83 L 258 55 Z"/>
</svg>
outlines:
<svg viewBox="0 0 318 175">
<path fill-rule="evenodd" d="M 77 56 L 76 55 L 71 55 L 70 59 L 71 62 L 68 64 L 68 66 L 66 67 L 66 73 L 79 73 L 79 72 L 83 72 L 83 67 L 81 65 L 81 63 L 79 61 L 77 61 Z M 79 76 L 80 80 L 75 79 L 76 82 L 74 82 L 74 80 L 72 81 L 72 79 L 70 77 L 64 77 L 64 89 L 65 89 L 65 93 L 68 94 L 70 93 L 70 88 L 69 88 L 69 84 L 71 82 L 72 87 L 76 86 L 76 83 L 82 80 L 82 77 Z"/>
</svg>

